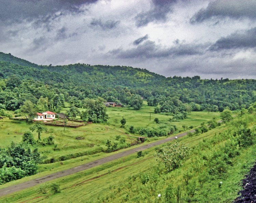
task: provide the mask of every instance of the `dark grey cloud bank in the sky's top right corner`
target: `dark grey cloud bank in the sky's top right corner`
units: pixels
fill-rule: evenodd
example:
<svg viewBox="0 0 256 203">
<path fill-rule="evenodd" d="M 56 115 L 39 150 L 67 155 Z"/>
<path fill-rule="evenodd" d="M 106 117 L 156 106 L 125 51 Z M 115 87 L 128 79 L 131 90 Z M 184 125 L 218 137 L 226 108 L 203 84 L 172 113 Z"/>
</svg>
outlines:
<svg viewBox="0 0 256 203">
<path fill-rule="evenodd" d="M 191 19 L 191 23 L 202 22 L 214 16 L 238 19 L 256 18 L 255 0 L 217 0 L 210 2 L 206 9 L 201 9 Z"/>
</svg>

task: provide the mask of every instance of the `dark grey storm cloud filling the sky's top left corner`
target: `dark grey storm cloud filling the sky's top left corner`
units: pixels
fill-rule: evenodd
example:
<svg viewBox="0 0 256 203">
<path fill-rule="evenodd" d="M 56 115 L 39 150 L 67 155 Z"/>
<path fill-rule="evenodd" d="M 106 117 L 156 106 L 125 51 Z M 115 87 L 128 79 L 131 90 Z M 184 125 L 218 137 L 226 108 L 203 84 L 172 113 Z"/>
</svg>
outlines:
<svg viewBox="0 0 256 203">
<path fill-rule="evenodd" d="M 51 15 L 57 11 L 79 11 L 82 4 L 98 0 L 0 0 L 0 22 L 8 24 L 33 20 Z"/>
</svg>

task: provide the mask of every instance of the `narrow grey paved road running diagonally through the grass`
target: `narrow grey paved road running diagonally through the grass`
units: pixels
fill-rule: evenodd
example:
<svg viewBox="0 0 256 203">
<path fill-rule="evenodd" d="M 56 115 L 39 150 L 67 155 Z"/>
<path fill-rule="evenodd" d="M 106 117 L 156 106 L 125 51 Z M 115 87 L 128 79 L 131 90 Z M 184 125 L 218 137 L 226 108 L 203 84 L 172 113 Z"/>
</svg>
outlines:
<svg viewBox="0 0 256 203">
<path fill-rule="evenodd" d="M 195 132 L 195 130 L 191 130 L 189 132 Z M 186 134 L 187 134 L 187 132 L 186 133 L 181 133 L 181 134 L 175 135 L 175 136 L 182 137 L 182 136 L 185 136 Z M 162 139 L 162 140 L 159 140 L 159 141 L 156 141 L 156 142 L 153 142 L 153 143 L 149 143 L 147 145 L 140 146 L 140 147 L 137 147 L 137 148 L 134 148 L 134 149 L 130 149 L 130 150 L 127 150 L 127 151 L 124 151 L 124 152 L 113 154 L 111 156 L 104 157 L 104 158 L 95 160 L 93 162 L 89 162 L 87 164 L 76 166 L 74 168 L 70 168 L 70 169 L 67 169 L 67 170 L 59 171 L 59 172 L 56 172 L 56 173 L 52 173 L 50 175 L 39 177 L 39 178 L 34 179 L 34 180 L 30 180 L 30 181 L 27 181 L 27 182 L 24 182 L 24 183 L 20 183 L 20 184 L 17 184 L 17 185 L 13 185 L 13 186 L 10 186 L 10 187 L 6 187 L 6 188 L 3 188 L 3 189 L 0 189 L 0 197 L 1 196 L 5 196 L 7 194 L 11 194 L 13 192 L 17 192 L 17 191 L 29 188 L 29 187 L 36 186 L 38 184 L 41 184 L 41 183 L 44 183 L 44 182 L 47 182 L 47 181 L 51 181 L 53 179 L 57 179 L 59 177 L 63 177 L 63 176 L 70 175 L 70 174 L 73 174 L 73 173 L 77 173 L 77 172 L 80 172 L 80 171 L 83 171 L 83 170 L 86 170 L 86 169 L 89 169 L 89 168 L 93 168 L 95 166 L 99 166 L 101 164 L 105 164 L 107 162 L 111 162 L 111 161 L 113 161 L 115 159 L 118 159 L 118 158 L 130 155 L 130 154 L 138 152 L 138 151 L 142 151 L 142 150 L 148 149 L 150 147 L 161 145 L 161 144 L 163 144 L 165 142 L 168 142 L 168 141 L 170 141 L 172 139 L 175 139 L 175 136 L 168 137 L 166 139 Z"/>
</svg>

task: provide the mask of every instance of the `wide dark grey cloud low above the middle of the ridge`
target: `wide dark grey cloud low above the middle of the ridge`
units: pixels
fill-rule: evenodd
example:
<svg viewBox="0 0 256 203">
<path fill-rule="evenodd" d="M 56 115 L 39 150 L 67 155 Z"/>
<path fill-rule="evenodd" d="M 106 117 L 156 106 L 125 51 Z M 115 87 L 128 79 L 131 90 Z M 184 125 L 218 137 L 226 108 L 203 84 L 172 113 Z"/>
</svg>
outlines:
<svg viewBox="0 0 256 203">
<path fill-rule="evenodd" d="M 180 44 L 171 48 L 162 48 L 156 45 L 154 41 L 147 40 L 138 47 L 123 50 L 115 49 L 110 54 L 119 58 L 162 58 L 168 56 L 185 56 L 203 54 L 208 45 Z"/>
</svg>

